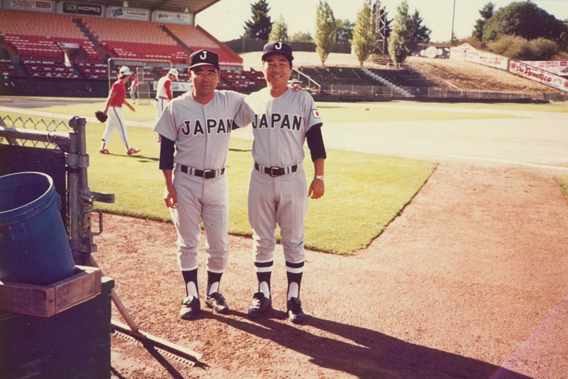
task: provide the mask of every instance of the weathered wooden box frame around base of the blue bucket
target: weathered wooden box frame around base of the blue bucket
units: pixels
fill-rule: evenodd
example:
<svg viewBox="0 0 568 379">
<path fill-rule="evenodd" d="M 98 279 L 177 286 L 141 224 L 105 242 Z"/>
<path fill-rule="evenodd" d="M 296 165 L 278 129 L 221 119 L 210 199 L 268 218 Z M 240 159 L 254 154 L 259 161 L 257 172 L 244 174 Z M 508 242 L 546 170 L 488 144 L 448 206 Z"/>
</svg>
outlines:
<svg viewBox="0 0 568 379">
<path fill-rule="evenodd" d="M 48 286 L 3 282 L 0 284 L 0 309 L 48 317 L 101 293 L 101 269 L 75 266 L 75 272 Z"/>
</svg>

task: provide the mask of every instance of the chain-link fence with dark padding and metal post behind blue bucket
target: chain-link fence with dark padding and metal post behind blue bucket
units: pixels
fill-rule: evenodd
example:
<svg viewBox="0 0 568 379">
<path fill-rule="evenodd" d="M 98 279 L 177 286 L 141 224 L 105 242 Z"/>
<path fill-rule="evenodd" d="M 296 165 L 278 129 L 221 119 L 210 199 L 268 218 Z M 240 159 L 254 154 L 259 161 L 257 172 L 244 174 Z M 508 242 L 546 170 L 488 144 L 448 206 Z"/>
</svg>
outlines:
<svg viewBox="0 0 568 379">
<path fill-rule="evenodd" d="M 75 264 L 89 266 L 90 254 L 97 251 L 93 236 L 103 230 L 102 212 L 93 204 L 112 203 L 114 195 L 89 189 L 85 125 L 78 116 L 67 124 L 0 115 L 0 176 L 32 171 L 53 178 Z M 98 219 L 97 231 L 91 230 L 92 215 Z"/>
</svg>

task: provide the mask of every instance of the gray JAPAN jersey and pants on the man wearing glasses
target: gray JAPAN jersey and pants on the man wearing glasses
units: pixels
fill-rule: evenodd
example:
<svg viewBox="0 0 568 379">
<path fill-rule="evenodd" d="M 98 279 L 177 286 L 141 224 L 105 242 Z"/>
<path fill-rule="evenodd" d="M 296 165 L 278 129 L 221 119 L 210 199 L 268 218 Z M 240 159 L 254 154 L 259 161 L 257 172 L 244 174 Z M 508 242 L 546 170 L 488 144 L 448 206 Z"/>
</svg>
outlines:
<svg viewBox="0 0 568 379">
<path fill-rule="evenodd" d="M 225 163 L 233 118 L 242 103 L 243 95 L 234 91 L 215 91 L 204 105 L 186 93 L 166 105 L 154 127 L 176 144 L 173 185 L 177 207 L 170 208 L 170 212 L 178 234 L 178 264 L 182 271 L 199 265 L 201 220 L 207 234 L 207 270 L 222 273 L 227 267 Z"/>
</svg>

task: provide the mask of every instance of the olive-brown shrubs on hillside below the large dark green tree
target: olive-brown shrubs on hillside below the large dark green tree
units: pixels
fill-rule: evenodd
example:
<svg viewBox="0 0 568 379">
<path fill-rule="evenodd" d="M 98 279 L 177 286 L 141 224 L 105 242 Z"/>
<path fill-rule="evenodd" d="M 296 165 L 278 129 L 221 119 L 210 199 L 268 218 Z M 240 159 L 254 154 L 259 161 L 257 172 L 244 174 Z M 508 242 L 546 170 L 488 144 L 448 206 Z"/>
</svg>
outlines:
<svg viewBox="0 0 568 379">
<path fill-rule="evenodd" d="M 548 61 L 560 49 L 556 42 L 546 38 L 528 41 L 520 36 L 506 35 L 487 43 L 487 50 L 516 60 Z"/>
</svg>

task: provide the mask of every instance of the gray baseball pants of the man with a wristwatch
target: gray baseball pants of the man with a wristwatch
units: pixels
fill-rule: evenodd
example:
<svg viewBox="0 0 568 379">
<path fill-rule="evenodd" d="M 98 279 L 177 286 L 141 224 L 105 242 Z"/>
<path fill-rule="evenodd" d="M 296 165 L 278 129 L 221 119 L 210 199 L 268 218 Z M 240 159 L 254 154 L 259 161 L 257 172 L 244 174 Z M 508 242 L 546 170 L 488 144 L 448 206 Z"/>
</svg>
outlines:
<svg viewBox="0 0 568 379">
<path fill-rule="evenodd" d="M 273 260 L 277 224 L 280 226 L 286 261 L 304 261 L 304 218 L 307 209 L 308 189 L 302 164 L 298 164 L 296 172 L 278 177 L 260 172 L 253 166 L 248 188 L 248 214 L 253 232 L 254 261 Z"/>
</svg>

